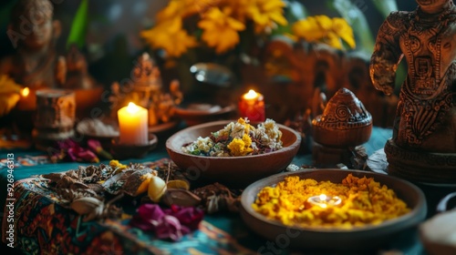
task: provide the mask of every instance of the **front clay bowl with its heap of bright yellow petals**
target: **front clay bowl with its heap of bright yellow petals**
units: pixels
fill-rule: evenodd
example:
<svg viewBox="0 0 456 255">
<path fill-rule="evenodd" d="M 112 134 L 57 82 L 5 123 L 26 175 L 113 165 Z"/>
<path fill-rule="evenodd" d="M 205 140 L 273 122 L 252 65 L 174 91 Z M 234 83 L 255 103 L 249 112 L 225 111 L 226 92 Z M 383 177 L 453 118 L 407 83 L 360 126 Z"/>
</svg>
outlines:
<svg viewBox="0 0 456 255">
<path fill-rule="evenodd" d="M 316 205 L 322 193 L 337 202 Z M 298 250 L 378 249 L 414 230 L 427 213 L 423 192 L 409 181 L 345 169 L 308 169 L 260 179 L 244 189 L 241 203 L 245 224 L 264 237 L 264 243 Z"/>
</svg>

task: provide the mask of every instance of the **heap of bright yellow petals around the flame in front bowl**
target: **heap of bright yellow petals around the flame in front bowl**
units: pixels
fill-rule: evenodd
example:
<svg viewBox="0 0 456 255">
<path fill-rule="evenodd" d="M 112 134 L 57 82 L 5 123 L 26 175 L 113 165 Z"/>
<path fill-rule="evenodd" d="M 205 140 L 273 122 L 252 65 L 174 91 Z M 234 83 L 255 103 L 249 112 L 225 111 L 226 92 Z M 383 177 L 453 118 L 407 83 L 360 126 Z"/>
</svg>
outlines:
<svg viewBox="0 0 456 255">
<path fill-rule="evenodd" d="M 318 206 L 309 198 L 325 194 L 338 197 L 334 206 Z M 264 187 L 252 205 L 269 219 L 287 226 L 351 229 L 377 225 L 409 212 L 394 190 L 372 178 L 348 174 L 342 183 L 287 177 L 275 187 Z"/>
</svg>

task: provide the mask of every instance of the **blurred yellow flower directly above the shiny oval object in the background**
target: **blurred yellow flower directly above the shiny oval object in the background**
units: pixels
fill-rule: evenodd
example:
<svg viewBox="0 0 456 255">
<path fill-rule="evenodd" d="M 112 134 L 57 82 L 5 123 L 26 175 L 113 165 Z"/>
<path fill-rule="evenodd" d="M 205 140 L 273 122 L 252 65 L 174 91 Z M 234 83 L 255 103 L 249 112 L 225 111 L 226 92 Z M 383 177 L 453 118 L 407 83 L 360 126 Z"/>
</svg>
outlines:
<svg viewBox="0 0 456 255">
<path fill-rule="evenodd" d="M 202 40 L 214 47 L 218 54 L 236 46 L 239 43 L 238 31 L 245 29 L 242 22 L 230 16 L 231 12 L 229 7 L 224 7 L 223 12 L 213 7 L 198 23 L 203 29 Z"/>
</svg>

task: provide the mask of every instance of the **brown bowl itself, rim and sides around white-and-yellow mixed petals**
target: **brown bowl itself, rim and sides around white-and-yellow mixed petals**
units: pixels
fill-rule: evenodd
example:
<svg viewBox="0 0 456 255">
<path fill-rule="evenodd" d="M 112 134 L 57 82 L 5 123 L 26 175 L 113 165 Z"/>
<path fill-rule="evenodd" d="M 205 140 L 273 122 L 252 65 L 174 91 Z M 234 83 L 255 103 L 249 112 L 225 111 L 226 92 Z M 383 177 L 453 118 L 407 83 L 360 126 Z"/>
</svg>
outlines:
<svg viewBox="0 0 456 255">
<path fill-rule="evenodd" d="M 234 121 L 234 120 L 232 120 Z M 181 147 L 199 137 L 224 128 L 229 120 L 213 121 L 182 129 L 166 141 L 172 161 L 192 180 L 220 182 L 230 187 L 246 187 L 257 179 L 276 174 L 285 169 L 295 157 L 301 136 L 292 128 L 277 124 L 282 131 L 283 147 L 279 150 L 244 157 L 203 157 L 184 153 Z M 252 123 L 254 126 L 254 123 Z"/>
</svg>

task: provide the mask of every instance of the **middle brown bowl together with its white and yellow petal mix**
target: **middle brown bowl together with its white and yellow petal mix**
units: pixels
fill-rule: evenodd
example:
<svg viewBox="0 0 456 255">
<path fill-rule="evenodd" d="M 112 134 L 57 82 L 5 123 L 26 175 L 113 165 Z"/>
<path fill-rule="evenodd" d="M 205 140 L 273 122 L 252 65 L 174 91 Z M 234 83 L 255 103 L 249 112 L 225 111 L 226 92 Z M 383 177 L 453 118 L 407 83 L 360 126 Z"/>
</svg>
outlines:
<svg viewBox="0 0 456 255">
<path fill-rule="evenodd" d="M 182 129 L 166 141 L 168 154 L 188 179 L 237 188 L 276 174 L 291 163 L 301 143 L 295 130 L 274 120 L 239 121 L 243 119 Z"/>
</svg>

